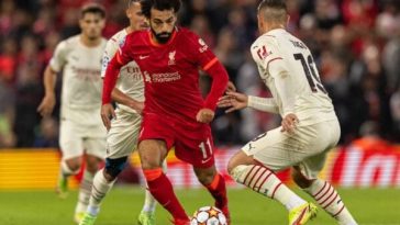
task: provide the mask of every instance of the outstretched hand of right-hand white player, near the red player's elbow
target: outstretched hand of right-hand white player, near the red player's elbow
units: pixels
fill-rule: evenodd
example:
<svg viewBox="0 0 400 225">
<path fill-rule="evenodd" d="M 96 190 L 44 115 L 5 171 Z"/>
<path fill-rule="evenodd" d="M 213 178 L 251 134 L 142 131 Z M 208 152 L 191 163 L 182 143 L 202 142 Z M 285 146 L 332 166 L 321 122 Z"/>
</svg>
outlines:
<svg viewBox="0 0 400 225">
<path fill-rule="evenodd" d="M 248 97 L 244 93 L 227 91 L 226 95 L 221 97 L 216 105 L 219 108 L 229 108 L 225 113 L 233 112 L 235 110 L 242 110 L 247 106 Z"/>
</svg>

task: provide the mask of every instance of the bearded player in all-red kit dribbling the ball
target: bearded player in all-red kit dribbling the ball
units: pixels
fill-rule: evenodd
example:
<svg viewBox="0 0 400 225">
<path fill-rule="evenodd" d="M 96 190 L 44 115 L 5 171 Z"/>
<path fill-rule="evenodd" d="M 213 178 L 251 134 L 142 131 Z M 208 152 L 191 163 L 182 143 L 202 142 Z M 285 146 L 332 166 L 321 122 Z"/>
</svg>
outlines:
<svg viewBox="0 0 400 225">
<path fill-rule="evenodd" d="M 215 206 L 229 216 L 225 181 L 215 170 L 208 124 L 227 86 L 226 70 L 198 35 L 176 26 L 180 0 L 141 3 L 149 30 L 127 35 L 107 68 L 101 110 L 103 123 L 110 127 L 109 116 L 115 116 L 110 101 L 118 72 L 134 59 L 145 81 L 138 154 L 148 190 L 173 215 L 174 224 L 189 224 L 187 213 L 162 170 L 168 149 L 175 146 L 177 157 L 193 166 L 199 181 L 215 199 Z M 199 90 L 199 68 L 212 77 L 205 100 Z"/>
</svg>

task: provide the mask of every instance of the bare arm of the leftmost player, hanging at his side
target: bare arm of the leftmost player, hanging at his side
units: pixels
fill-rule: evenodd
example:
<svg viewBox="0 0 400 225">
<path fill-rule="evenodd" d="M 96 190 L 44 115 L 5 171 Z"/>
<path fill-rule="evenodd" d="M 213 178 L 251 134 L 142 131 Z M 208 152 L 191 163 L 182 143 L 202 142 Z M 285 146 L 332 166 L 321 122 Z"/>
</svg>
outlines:
<svg viewBox="0 0 400 225">
<path fill-rule="evenodd" d="M 41 113 L 42 116 L 49 116 L 56 104 L 56 94 L 54 92 L 55 77 L 56 71 L 54 71 L 51 66 L 47 66 L 43 76 L 45 95 L 37 108 L 37 112 Z"/>
</svg>

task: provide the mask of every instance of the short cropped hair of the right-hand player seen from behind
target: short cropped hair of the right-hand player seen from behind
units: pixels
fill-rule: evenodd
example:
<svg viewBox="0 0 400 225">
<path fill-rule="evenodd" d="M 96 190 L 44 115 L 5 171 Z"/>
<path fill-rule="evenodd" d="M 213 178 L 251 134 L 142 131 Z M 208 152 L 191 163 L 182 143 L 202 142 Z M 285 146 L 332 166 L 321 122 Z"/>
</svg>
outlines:
<svg viewBox="0 0 400 225">
<path fill-rule="evenodd" d="M 285 21 L 288 13 L 285 0 L 263 0 L 257 10 L 268 21 Z"/>
</svg>

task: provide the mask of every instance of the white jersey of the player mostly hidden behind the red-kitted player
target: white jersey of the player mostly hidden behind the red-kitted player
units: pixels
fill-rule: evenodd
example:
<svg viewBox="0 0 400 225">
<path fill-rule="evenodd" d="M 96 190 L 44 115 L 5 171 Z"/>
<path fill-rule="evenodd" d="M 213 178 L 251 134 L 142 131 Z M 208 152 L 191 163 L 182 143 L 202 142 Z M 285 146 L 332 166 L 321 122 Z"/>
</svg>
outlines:
<svg viewBox="0 0 400 225">
<path fill-rule="evenodd" d="M 114 57 L 120 45 L 125 42 L 125 36 L 127 35 L 125 29 L 118 32 L 114 36 L 109 40 L 103 54 L 103 64 L 101 67 L 101 77 L 104 78 L 105 69 L 110 60 Z M 144 83 L 141 70 L 137 64 L 133 60 L 120 70 L 119 78 L 115 86 L 120 91 L 131 97 L 136 101 L 144 101 Z M 123 111 L 136 113 L 135 110 L 123 104 L 116 104 Z"/>
</svg>

